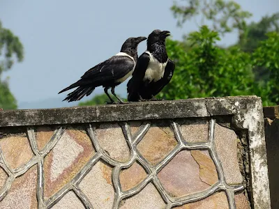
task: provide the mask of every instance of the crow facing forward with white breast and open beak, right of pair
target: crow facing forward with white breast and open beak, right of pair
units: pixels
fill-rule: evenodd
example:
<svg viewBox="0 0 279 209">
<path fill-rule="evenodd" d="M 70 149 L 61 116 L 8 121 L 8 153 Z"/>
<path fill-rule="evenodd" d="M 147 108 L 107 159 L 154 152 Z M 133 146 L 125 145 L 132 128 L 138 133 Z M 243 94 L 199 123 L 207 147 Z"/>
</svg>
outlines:
<svg viewBox="0 0 279 209">
<path fill-rule="evenodd" d="M 156 100 L 172 79 L 174 62 L 168 59 L 165 39 L 169 31 L 154 30 L 147 39 L 147 49 L 139 57 L 133 77 L 127 85 L 128 101 Z"/>
</svg>

